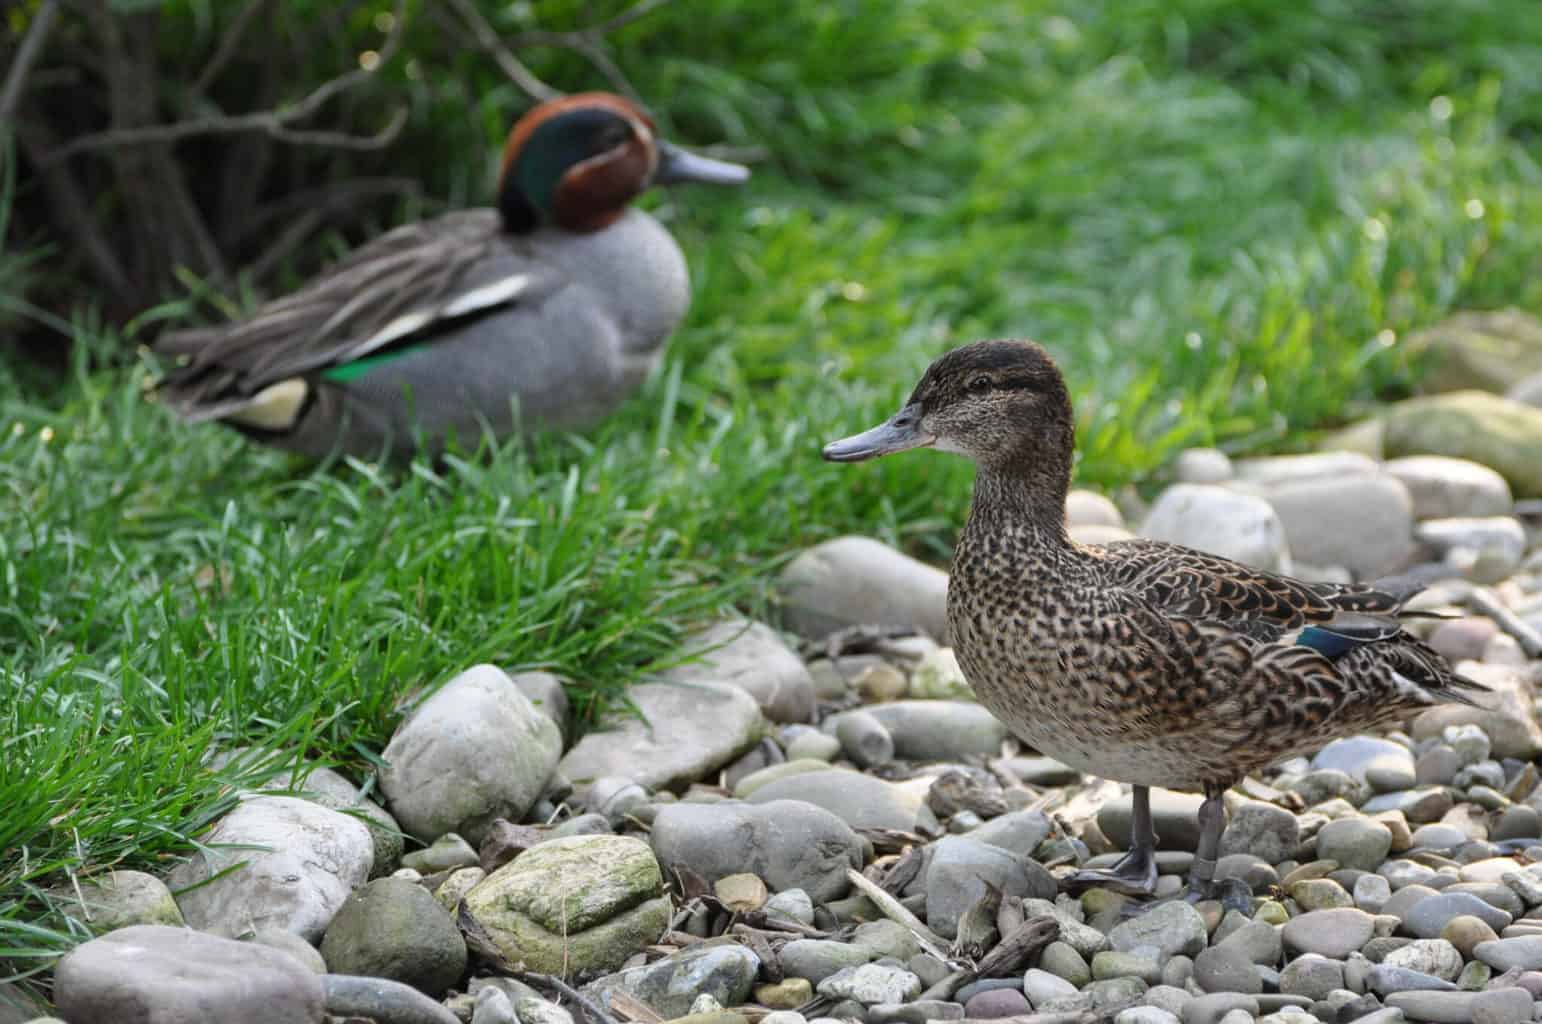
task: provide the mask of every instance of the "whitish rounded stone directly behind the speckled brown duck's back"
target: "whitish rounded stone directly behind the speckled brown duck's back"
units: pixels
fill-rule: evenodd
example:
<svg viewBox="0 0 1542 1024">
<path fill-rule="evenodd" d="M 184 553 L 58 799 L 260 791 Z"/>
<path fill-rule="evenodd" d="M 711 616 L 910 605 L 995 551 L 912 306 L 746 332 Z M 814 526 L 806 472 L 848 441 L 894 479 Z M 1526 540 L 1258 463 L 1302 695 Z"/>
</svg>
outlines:
<svg viewBox="0 0 1542 1024">
<path fill-rule="evenodd" d="M 1175 484 L 1152 506 L 1141 535 L 1274 572 L 1289 572 L 1280 517 L 1263 498 L 1209 484 Z"/>
</svg>

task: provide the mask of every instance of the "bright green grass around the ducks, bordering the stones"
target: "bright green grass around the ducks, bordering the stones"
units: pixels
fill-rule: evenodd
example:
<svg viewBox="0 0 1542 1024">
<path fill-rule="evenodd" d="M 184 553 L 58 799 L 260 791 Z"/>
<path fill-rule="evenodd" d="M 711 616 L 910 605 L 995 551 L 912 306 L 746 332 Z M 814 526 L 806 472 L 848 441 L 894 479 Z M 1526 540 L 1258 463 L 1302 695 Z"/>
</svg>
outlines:
<svg viewBox="0 0 1542 1024">
<path fill-rule="evenodd" d="M 649 202 L 694 307 L 600 430 L 311 467 L 145 404 L 91 296 L 68 379 L 0 367 L 0 959 L 74 941 L 69 873 L 185 850 L 242 780 L 211 748 L 365 779 L 398 697 L 475 662 L 592 709 L 805 544 L 944 558 L 967 466 L 817 449 L 947 347 L 1049 344 L 1116 487 L 1405 392 L 1396 339 L 1451 308 L 1542 312 L 1531 0 L 722 6 L 621 56 L 672 134 L 771 159 Z M 515 103 L 458 102 L 484 147 Z"/>
</svg>

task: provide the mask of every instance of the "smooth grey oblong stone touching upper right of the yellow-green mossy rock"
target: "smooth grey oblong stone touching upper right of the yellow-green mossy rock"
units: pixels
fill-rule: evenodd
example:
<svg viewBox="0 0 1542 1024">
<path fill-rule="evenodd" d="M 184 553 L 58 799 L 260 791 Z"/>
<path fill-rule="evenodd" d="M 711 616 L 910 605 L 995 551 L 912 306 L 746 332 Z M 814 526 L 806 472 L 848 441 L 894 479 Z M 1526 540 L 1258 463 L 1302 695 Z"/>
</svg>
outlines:
<svg viewBox="0 0 1542 1024">
<path fill-rule="evenodd" d="M 749 871 L 773 891 L 802 890 L 813 902 L 845 896 L 847 870 L 862 867 L 851 827 L 803 800 L 669 803 L 654 817 L 651 842 L 665 873 L 688 868 L 715 882 Z"/>
</svg>

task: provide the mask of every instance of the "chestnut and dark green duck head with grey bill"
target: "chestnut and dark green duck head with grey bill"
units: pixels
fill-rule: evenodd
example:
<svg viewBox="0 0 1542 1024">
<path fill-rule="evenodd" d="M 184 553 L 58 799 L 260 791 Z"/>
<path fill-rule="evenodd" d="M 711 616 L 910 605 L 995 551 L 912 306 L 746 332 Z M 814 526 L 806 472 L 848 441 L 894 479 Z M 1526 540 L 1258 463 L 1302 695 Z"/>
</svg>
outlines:
<svg viewBox="0 0 1542 1024">
<path fill-rule="evenodd" d="M 671 145 L 652 119 L 611 93 L 547 100 L 515 123 L 503 148 L 498 211 L 504 228 L 555 224 L 598 231 L 652 185 L 739 185 L 749 170 Z"/>
</svg>

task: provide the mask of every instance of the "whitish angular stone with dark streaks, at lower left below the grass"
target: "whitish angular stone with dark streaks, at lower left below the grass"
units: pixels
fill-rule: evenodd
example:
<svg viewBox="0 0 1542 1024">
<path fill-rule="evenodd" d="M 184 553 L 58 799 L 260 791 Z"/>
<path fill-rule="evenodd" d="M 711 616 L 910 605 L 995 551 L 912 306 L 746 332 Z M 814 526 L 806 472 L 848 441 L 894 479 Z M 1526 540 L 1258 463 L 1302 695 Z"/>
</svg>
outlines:
<svg viewBox="0 0 1542 1024">
<path fill-rule="evenodd" d="M 364 822 L 288 796 L 242 800 L 202 844 L 167 882 L 191 927 L 227 938 L 281 928 L 316 942 L 375 861 Z"/>
</svg>

